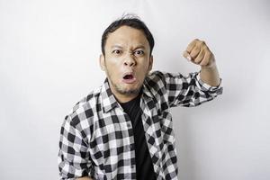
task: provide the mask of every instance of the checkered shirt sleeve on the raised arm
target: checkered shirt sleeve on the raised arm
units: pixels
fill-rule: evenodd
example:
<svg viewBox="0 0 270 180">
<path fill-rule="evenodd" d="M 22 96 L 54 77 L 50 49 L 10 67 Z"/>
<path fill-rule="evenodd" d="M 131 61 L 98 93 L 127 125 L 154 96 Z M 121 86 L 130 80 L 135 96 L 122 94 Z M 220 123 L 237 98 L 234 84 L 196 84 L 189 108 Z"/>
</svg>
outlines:
<svg viewBox="0 0 270 180">
<path fill-rule="evenodd" d="M 222 94 L 221 79 L 218 86 L 207 85 L 202 82 L 199 72 L 190 73 L 188 76 L 180 73 L 163 73 L 163 76 L 170 107 L 177 105 L 193 107 Z"/>
</svg>

